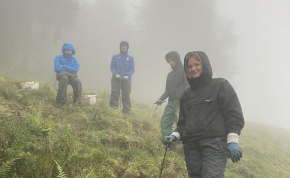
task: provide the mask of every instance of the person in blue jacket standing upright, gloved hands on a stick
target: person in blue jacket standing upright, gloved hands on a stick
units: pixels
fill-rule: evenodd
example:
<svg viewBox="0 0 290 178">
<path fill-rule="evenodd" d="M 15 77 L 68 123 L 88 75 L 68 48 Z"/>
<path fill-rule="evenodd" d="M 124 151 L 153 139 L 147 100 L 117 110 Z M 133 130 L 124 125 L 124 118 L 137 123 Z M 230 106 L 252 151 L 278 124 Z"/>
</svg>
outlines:
<svg viewBox="0 0 290 178">
<path fill-rule="evenodd" d="M 121 41 L 120 54 L 113 55 L 111 60 L 111 96 L 109 105 L 118 109 L 121 93 L 123 112 L 131 114 L 131 82 L 135 71 L 134 57 L 128 54 L 129 43 Z"/>
</svg>

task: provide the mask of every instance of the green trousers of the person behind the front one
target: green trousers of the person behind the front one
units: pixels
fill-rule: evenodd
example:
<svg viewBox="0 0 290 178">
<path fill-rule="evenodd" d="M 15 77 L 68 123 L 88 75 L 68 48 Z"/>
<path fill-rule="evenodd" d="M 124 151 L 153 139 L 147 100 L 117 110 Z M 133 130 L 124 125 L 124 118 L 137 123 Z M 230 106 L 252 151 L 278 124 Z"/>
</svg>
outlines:
<svg viewBox="0 0 290 178">
<path fill-rule="evenodd" d="M 169 101 L 160 121 L 162 137 L 169 136 L 172 133 L 172 125 L 177 122 L 178 112 L 179 99 Z"/>
</svg>

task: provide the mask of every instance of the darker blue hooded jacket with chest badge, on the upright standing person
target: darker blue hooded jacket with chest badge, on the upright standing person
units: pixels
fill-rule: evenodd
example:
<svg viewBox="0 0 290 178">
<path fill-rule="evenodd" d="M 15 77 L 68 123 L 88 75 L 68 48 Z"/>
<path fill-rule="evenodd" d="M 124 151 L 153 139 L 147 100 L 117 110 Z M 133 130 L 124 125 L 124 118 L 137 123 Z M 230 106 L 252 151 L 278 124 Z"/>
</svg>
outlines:
<svg viewBox="0 0 290 178">
<path fill-rule="evenodd" d="M 127 51 L 122 52 L 121 46 L 122 44 L 127 45 Z M 135 72 L 135 62 L 134 57 L 128 54 L 129 43 L 127 41 L 121 41 L 120 43 L 120 54 L 113 55 L 111 61 L 111 72 L 113 77 L 116 74 L 121 75 L 121 77 L 127 76 L 129 77 L 128 81 L 132 82 L 132 75 Z"/>
</svg>

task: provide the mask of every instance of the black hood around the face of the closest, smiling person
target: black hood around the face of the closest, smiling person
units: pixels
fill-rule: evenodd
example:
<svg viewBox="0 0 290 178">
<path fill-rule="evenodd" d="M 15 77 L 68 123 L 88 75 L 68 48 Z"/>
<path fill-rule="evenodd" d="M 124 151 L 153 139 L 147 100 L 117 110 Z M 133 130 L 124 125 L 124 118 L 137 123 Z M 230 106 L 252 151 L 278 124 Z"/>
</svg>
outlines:
<svg viewBox="0 0 290 178">
<path fill-rule="evenodd" d="M 202 64 L 202 73 L 199 77 L 197 78 L 192 78 L 190 73 L 188 72 L 187 69 L 187 56 L 189 54 L 195 54 L 199 60 L 201 61 Z M 185 57 L 184 57 L 184 70 L 187 76 L 187 81 L 192 88 L 196 88 L 200 85 L 206 84 L 208 81 L 212 79 L 213 76 L 213 71 L 212 71 L 212 66 L 209 60 L 208 55 L 205 52 L 202 51 L 192 51 L 188 52 Z"/>
</svg>

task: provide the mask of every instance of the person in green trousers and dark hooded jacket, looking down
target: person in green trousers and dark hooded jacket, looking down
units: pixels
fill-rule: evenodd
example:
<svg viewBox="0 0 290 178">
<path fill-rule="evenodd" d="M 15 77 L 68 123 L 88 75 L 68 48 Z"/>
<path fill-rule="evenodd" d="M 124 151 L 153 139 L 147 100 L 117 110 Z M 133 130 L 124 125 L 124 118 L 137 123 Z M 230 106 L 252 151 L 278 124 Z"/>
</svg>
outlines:
<svg viewBox="0 0 290 178">
<path fill-rule="evenodd" d="M 160 121 L 162 137 L 172 133 L 172 125 L 177 121 L 179 98 L 189 87 L 179 53 L 170 51 L 165 55 L 165 60 L 171 66 L 172 71 L 167 75 L 165 92 L 156 101 L 157 105 L 161 105 L 168 98 L 168 104 Z M 175 144 L 171 144 L 169 149 L 175 150 Z"/>
</svg>

